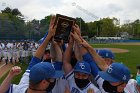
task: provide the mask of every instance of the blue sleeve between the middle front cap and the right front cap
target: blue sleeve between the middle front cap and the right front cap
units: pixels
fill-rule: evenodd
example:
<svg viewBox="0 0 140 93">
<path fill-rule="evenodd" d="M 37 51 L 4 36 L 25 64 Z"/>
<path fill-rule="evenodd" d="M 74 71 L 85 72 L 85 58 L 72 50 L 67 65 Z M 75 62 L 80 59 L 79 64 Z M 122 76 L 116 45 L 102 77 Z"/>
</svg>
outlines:
<svg viewBox="0 0 140 93">
<path fill-rule="evenodd" d="M 100 69 L 98 68 L 97 64 L 95 63 L 94 59 L 92 58 L 92 56 L 90 55 L 90 53 L 86 53 L 83 55 L 83 60 L 88 62 L 91 66 L 91 74 L 96 77 L 98 75 L 98 71 L 100 71 Z"/>
</svg>

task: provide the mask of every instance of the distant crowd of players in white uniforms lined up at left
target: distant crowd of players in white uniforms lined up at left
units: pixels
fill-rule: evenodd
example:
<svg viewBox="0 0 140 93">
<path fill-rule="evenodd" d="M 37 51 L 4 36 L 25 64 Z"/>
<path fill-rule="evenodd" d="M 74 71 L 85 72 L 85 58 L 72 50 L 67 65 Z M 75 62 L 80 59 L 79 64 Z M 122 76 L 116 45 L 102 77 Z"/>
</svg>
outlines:
<svg viewBox="0 0 140 93">
<path fill-rule="evenodd" d="M 36 42 L 0 41 L 0 62 L 15 64 L 24 58 L 34 56 L 39 44 Z"/>
</svg>

